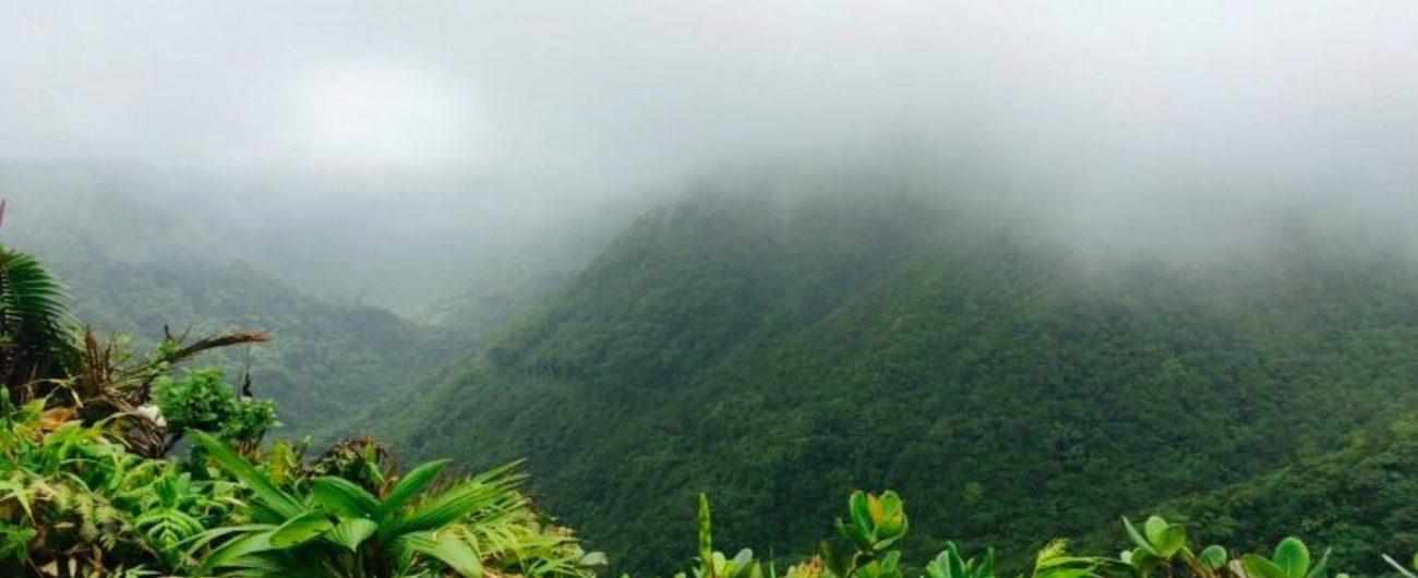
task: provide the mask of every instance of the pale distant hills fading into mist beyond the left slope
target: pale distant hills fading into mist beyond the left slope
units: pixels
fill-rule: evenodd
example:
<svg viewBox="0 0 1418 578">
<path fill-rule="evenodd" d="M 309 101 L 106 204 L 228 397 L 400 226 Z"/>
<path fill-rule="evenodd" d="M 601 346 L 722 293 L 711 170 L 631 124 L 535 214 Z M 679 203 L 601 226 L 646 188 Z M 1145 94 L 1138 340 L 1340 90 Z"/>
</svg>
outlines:
<svg viewBox="0 0 1418 578">
<path fill-rule="evenodd" d="M 529 215 L 535 205 L 478 194 L 505 187 L 0 159 L 0 197 L 10 201 L 4 238 L 51 261 L 95 246 L 167 268 L 242 261 L 322 302 L 474 337 L 564 282 L 623 221 L 614 211 L 624 207 L 596 204 L 580 215 L 594 225 L 567 227 Z"/>
</svg>

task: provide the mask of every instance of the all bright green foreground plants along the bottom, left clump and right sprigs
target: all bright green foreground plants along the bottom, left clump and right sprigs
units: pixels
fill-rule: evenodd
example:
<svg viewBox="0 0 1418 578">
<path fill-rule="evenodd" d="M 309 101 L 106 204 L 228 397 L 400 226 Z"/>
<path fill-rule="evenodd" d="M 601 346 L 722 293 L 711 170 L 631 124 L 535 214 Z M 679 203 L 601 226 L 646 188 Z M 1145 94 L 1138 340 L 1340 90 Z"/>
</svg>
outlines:
<svg viewBox="0 0 1418 578">
<path fill-rule="evenodd" d="M 0 248 L 0 577 L 588 578 L 604 571 L 605 555 L 586 551 L 520 490 L 516 463 L 455 475 L 447 460 L 398 468 L 372 439 L 311 459 L 308 443 L 268 442 L 278 426 L 274 402 L 255 398 L 250 380 L 189 367 L 207 351 L 265 339 L 166 334 L 153 351 L 133 354 L 121 340 L 81 329 L 38 262 Z M 1228 550 L 1198 544 L 1183 524 L 1159 516 L 1141 524 L 1123 518 L 1119 534 L 1130 547 L 1116 555 L 1071 554 L 1055 540 L 1007 568 L 994 550 L 971 555 L 946 540 L 934 555 L 908 560 L 900 544 L 910 523 L 899 494 L 854 492 L 847 506 L 834 534 L 793 562 L 716 550 L 700 494 L 698 548 L 676 578 L 1332 575 L 1330 550 L 1312 551 L 1299 538 Z M 675 538 L 689 545 L 688 534 Z"/>
</svg>

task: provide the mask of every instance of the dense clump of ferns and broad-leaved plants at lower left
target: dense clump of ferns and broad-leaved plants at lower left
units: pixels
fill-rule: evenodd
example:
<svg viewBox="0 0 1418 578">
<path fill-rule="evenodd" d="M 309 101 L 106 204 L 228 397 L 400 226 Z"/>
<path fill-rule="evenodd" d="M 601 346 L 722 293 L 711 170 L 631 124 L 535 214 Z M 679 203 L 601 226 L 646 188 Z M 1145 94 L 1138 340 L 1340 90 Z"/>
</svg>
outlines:
<svg viewBox="0 0 1418 578">
<path fill-rule="evenodd" d="M 262 445 L 275 404 L 180 366 L 264 333 L 149 356 L 79 329 L 62 286 L 0 246 L 0 575 L 586 577 L 603 558 L 506 465 L 403 472 L 367 439 L 306 460 Z M 174 452 L 190 439 L 190 452 Z"/>
</svg>

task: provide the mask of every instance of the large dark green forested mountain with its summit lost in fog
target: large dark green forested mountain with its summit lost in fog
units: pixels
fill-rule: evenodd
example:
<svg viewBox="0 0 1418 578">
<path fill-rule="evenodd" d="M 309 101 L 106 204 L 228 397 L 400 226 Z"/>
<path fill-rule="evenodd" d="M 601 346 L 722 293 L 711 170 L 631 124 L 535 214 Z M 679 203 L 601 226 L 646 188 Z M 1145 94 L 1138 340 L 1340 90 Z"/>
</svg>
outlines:
<svg viewBox="0 0 1418 578">
<path fill-rule="evenodd" d="M 780 554 L 851 487 L 915 504 L 908 550 L 1024 552 L 1418 401 L 1418 269 L 1398 256 L 1289 228 L 1242 261 L 1083 265 L 930 201 L 777 205 L 642 218 L 387 429 L 428 456 L 530 458 L 552 511 L 645 570 L 676 555 L 699 490 L 729 543 Z"/>
</svg>

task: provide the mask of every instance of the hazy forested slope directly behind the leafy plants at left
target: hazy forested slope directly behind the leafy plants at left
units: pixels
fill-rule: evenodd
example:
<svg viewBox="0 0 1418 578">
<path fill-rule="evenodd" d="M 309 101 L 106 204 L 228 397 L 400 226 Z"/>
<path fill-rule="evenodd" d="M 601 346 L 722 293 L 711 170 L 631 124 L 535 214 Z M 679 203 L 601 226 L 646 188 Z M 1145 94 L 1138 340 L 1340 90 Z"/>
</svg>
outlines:
<svg viewBox="0 0 1418 578">
<path fill-rule="evenodd" d="M 335 305 L 244 261 L 223 231 L 173 215 L 104 173 L 0 166 L 9 215 L 0 239 L 26 246 L 71 288 L 101 334 L 153 344 L 163 329 L 203 336 L 269 330 L 274 341 L 216 360 L 281 402 L 277 435 L 359 428 L 352 415 L 408 382 L 428 380 L 472 348 L 467 333 L 415 324 L 387 310 Z"/>
</svg>

